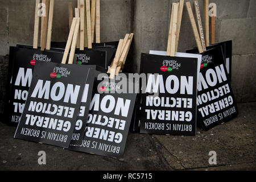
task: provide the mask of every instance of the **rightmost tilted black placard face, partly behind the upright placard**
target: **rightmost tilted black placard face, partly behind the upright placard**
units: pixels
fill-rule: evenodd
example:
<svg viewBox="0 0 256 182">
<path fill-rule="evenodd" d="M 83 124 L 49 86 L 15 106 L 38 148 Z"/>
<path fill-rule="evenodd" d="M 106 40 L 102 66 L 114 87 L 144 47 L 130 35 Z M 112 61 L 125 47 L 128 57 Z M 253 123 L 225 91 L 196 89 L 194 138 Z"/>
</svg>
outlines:
<svg viewBox="0 0 256 182">
<path fill-rule="evenodd" d="M 204 130 L 227 122 L 238 114 L 221 47 L 201 53 L 197 116 Z"/>
</svg>

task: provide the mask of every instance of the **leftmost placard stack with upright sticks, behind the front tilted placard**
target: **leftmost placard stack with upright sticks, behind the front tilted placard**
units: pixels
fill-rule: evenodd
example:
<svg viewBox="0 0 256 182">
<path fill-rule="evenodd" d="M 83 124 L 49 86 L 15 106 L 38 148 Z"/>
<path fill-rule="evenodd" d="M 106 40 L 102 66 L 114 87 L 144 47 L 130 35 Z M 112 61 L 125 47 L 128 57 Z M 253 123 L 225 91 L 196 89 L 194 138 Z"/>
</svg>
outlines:
<svg viewBox="0 0 256 182">
<path fill-rule="evenodd" d="M 60 63 L 64 50 L 51 49 L 52 19 L 54 0 L 44 2 L 48 7 L 46 16 L 42 16 L 40 48 L 39 35 L 39 3 L 35 6 L 35 27 L 33 46 L 18 45 L 10 47 L 7 97 L 5 105 L 6 122 L 16 126 L 20 120 L 31 85 L 32 73 L 36 61 Z M 48 30 L 47 30 L 48 26 Z"/>
</svg>

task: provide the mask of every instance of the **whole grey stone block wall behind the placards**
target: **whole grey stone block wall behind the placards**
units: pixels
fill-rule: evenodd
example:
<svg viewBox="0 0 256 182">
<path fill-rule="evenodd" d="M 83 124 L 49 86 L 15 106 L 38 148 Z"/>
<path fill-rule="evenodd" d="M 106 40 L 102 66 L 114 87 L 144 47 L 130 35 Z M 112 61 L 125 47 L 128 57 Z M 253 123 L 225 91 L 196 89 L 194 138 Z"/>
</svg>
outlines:
<svg viewBox="0 0 256 182">
<path fill-rule="evenodd" d="M 72 1 L 72 0 L 69 0 Z M 68 0 L 55 0 L 52 40 L 68 37 Z M 187 2 L 188 0 L 185 0 Z M 198 0 L 204 27 L 204 1 Z M 77 1 L 73 0 L 73 7 Z M 171 3 L 177 0 L 101 0 L 101 41 L 134 32 L 134 71 L 141 52 L 167 48 Z M 193 5 L 193 1 L 190 1 Z M 256 0 L 212 0 L 217 5 L 216 42 L 233 40 L 233 91 L 237 102 L 256 101 Z M 0 0 L 0 111 L 5 97 L 9 46 L 32 44 L 34 0 Z M 192 9 L 194 10 L 193 6 Z M 178 51 L 196 46 L 184 6 Z"/>
</svg>

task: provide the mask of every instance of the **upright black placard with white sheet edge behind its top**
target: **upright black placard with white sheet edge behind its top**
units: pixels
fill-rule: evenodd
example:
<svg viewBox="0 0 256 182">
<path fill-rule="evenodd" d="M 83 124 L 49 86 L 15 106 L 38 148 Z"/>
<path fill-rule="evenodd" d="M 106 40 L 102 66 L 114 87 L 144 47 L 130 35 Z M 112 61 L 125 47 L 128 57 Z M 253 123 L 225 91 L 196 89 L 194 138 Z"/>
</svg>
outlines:
<svg viewBox="0 0 256 182">
<path fill-rule="evenodd" d="M 141 65 L 147 75 L 141 133 L 196 135 L 198 60 L 142 53 Z"/>
</svg>

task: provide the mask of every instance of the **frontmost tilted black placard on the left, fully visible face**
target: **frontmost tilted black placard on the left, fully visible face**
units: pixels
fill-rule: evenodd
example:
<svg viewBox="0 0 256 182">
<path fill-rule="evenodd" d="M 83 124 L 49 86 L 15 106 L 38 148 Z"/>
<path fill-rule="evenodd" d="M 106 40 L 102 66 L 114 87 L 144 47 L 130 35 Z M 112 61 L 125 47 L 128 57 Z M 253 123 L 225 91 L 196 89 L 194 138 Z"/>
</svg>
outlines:
<svg viewBox="0 0 256 182">
<path fill-rule="evenodd" d="M 90 67 L 36 61 L 14 138 L 68 147 Z"/>
</svg>

